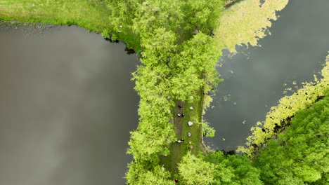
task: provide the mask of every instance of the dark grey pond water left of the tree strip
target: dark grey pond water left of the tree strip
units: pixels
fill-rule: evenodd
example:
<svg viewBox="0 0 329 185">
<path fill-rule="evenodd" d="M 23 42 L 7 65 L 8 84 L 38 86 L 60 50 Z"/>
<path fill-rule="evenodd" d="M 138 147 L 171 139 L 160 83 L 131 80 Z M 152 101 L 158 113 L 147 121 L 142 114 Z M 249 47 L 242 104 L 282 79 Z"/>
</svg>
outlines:
<svg viewBox="0 0 329 185">
<path fill-rule="evenodd" d="M 124 184 L 136 64 L 79 27 L 0 28 L 0 184 Z"/>
</svg>

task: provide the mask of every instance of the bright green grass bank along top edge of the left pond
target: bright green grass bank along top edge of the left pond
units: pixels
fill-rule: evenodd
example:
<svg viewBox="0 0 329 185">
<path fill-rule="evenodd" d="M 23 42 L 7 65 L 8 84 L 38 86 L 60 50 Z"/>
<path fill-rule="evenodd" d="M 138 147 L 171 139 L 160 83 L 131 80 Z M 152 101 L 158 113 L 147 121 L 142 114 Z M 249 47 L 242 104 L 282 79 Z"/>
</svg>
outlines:
<svg viewBox="0 0 329 185">
<path fill-rule="evenodd" d="M 110 26 L 102 0 L 0 0 L 0 20 L 77 25 L 91 32 Z"/>
</svg>

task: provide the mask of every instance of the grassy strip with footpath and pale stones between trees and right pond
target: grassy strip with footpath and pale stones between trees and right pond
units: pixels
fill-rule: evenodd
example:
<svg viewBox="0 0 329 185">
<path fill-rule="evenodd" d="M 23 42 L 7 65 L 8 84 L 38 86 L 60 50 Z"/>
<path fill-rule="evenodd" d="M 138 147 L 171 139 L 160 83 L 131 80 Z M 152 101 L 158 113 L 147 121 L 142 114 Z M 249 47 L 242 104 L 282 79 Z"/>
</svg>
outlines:
<svg viewBox="0 0 329 185">
<path fill-rule="evenodd" d="M 170 155 L 162 156 L 160 162 L 169 172 L 172 172 L 174 178 L 178 177 L 177 164 L 181 161 L 181 158 L 186 155 L 188 150 L 195 155 L 204 151 L 202 145 L 202 125 L 198 124 L 202 121 L 203 90 L 199 91 L 199 97 L 201 100 L 195 100 L 191 103 L 177 101 L 176 107 L 174 108 L 176 137 L 177 139 L 184 139 L 184 142 L 171 144 L 171 146 L 169 146 Z M 178 105 L 181 105 L 183 108 L 179 109 Z M 193 110 L 190 110 L 189 107 L 193 107 Z M 183 118 L 176 116 L 181 113 L 185 114 Z M 188 126 L 188 121 L 193 122 L 191 127 Z M 188 137 L 188 132 L 191 132 L 191 137 Z M 191 142 L 191 144 L 189 144 L 189 142 Z M 193 146 L 193 149 L 189 149 L 189 146 Z"/>
</svg>

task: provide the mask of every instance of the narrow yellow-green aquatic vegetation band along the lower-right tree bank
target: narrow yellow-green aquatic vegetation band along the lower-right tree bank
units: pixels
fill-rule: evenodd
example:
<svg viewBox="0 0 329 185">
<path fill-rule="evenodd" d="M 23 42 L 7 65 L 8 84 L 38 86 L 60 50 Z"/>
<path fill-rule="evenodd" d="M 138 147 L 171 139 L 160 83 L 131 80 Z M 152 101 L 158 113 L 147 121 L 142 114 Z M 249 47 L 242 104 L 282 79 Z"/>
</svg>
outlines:
<svg viewBox="0 0 329 185">
<path fill-rule="evenodd" d="M 266 115 L 264 124 L 258 122 L 256 126 L 251 128 L 252 135 L 247 138 L 247 148 L 243 146 L 238 147 L 238 151 L 243 151 L 252 156 L 259 146 L 262 146 L 268 139 L 277 135 L 287 125 L 290 118 L 295 116 L 297 111 L 307 109 L 318 97 L 328 95 L 329 90 L 329 55 L 325 60 L 325 67 L 323 67 L 321 74 L 323 78 L 318 80 L 315 78 L 314 83 L 305 83 L 304 88 L 297 90 L 291 96 L 285 96 L 278 102 L 278 106 L 271 107 L 271 111 Z M 280 128 L 280 129 L 278 129 Z"/>
</svg>

